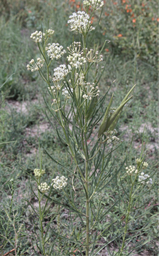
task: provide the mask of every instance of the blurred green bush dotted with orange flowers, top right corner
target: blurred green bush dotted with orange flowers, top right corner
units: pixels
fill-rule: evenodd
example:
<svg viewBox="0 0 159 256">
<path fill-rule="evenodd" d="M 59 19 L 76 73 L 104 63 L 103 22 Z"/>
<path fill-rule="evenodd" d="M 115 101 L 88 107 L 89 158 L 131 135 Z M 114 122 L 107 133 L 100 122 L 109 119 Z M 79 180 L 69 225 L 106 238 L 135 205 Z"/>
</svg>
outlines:
<svg viewBox="0 0 159 256">
<path fill-rule="evenodd" d="M 156 1 L 106 1 L 101 30 L 110 39 L 113 54 L 155 65 L 158 21 Z"/>
</svg>

